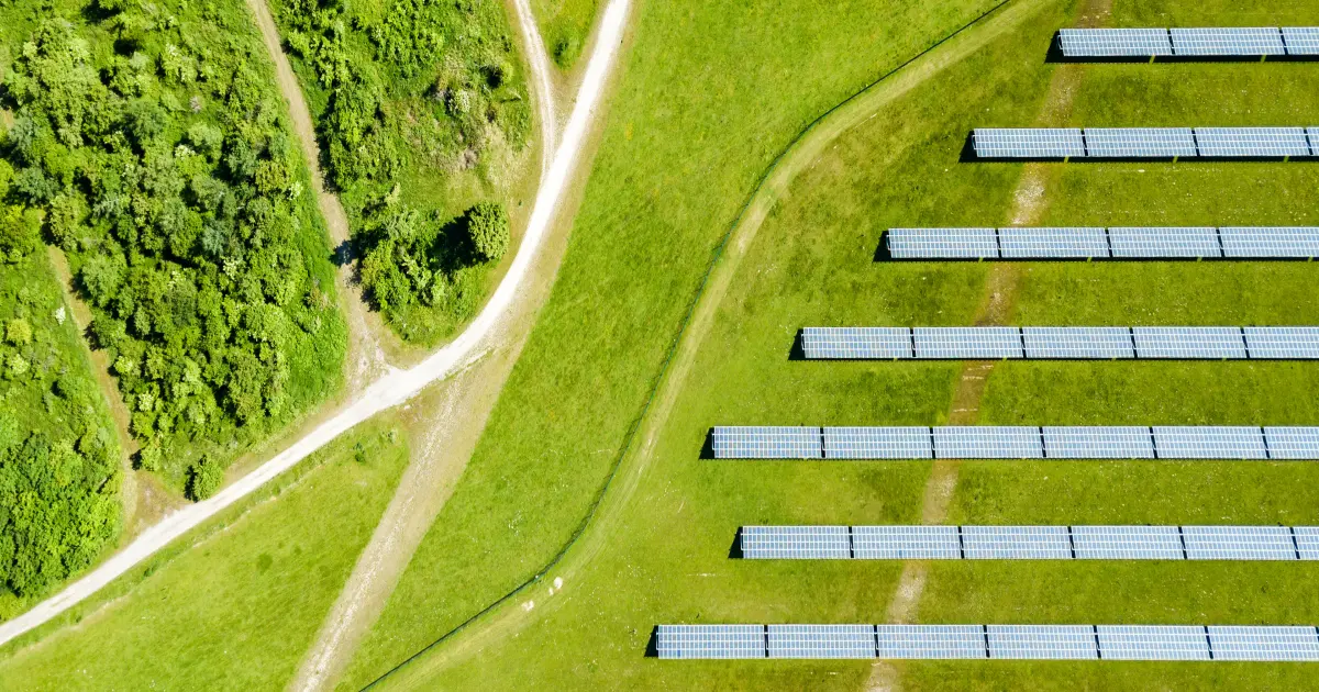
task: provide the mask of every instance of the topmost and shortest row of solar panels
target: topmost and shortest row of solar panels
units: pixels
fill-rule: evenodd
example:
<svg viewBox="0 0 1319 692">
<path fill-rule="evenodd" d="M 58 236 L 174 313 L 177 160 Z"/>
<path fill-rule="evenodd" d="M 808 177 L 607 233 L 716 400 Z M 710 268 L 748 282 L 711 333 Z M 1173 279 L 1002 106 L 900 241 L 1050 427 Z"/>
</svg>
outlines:
<svg viewBox="0 0 1319 692">
<path fill-rule="evenodd" d="M 1319 28 L 1060 29 L 1058 50 L 1067 58 L 1319 55 Z"/>
</svg>

